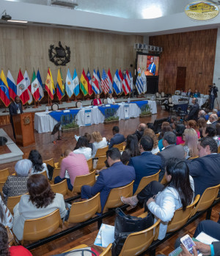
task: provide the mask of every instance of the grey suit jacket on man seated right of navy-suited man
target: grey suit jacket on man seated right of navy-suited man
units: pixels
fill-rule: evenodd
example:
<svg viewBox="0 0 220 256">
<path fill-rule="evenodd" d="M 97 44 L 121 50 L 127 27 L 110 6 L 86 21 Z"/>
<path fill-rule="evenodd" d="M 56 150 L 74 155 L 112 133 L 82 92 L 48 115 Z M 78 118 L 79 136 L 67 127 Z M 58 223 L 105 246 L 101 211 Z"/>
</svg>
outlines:
<svg viewBox="0 0 220 256">
<path fill-rule="evenodd" d="M 157 154 L 157 156 L 160 156 L 162 159 L 162 165 L 159 181 L 162 180 L 164 177 L 165 167 L 166 167 L 166 161 L 169 160 L 169 158 L 180 158 L 185 159 L 185 151 L 183 149 L 182 145 L 169 145 L 168 147 L 165 147 L 163 151 Z"/>
</svg>

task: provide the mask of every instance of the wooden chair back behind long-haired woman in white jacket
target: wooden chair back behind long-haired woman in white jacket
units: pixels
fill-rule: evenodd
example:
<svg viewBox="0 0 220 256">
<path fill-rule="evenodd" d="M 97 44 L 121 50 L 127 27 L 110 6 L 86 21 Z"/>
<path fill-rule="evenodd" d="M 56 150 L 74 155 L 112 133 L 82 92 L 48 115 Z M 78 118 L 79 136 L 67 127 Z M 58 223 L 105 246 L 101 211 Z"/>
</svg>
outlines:
<svg viewBox="0 0 220 256">
<path fill-rule="evenodd" d="M 199 201 L 199 197 L 199 194 L 197 194 L 197 197 L 194 198 L 194 202 L 192 202 L 191 205 L 188 205 L 185 211 L 183 211 L 183 208 L 179 208 L 175 211 L 172 220 L 168 224 L 166 233 L 174 232 L 175 230 L 178 230 L 180 227 L 183 227 L 183 225 L 186 224 L 191 216 L 192 209 Z"/>
</svg>

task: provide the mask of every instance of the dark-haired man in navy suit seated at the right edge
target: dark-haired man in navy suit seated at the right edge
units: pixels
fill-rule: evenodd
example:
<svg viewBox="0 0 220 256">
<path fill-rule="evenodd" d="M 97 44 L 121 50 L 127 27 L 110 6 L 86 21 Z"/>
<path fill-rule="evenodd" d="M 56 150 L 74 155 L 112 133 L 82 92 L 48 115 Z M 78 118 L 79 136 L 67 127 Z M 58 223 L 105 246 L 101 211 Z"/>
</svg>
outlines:
<svg viewBox="0 0 220 256">
<path fill-rule="evenodd" d="M 213 138 L 204 137 L 198 144 L 199 158 L 186 161 L 189 174 L 194 179 L 195 196 L 211 186 L 220 183 L 220 154 L 218 145 Z"/>
</svg>

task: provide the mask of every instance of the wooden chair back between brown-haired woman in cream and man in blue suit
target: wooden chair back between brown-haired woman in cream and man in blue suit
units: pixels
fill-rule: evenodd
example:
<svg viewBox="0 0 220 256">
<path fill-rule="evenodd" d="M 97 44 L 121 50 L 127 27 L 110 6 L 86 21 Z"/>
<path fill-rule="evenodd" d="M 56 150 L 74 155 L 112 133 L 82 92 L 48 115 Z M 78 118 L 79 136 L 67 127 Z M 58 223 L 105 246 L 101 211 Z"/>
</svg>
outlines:
<svg viewBox="0 0 220 256">
<path fill-rule="evenodd" d="M 95 194 L 95 196 L 89 198 L 89 200 L 73 202 L 70 209 L 70 216 L 67 219 L 67 222 L 80 223 L 92 218 L 92 216 L 94 216 L 98 211 L 99 202 L 100 193 Z"/>
</svg>

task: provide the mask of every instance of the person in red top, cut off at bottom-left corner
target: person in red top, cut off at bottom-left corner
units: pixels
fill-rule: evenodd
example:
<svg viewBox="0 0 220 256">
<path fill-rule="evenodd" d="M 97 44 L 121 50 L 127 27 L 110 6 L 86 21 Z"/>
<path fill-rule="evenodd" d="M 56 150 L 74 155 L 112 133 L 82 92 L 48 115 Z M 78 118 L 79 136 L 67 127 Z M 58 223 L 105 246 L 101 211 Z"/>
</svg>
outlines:
<svg viewBox="0 0 220 256">
<path fill-rule="evenodd" d="M 32 256 L 28 249 L 19 246 L 8 246 L 7 229 L 0 224 L 0 255 L 1 256 Z"/>
</svg>

